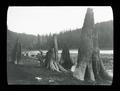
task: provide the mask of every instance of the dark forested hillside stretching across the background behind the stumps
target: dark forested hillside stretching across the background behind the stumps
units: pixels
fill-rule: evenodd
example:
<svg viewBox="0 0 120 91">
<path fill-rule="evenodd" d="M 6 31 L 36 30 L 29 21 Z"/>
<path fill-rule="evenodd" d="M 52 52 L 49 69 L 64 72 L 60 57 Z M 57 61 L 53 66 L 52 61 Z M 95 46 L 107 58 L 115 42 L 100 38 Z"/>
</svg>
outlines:
<svg viewBox="0 0 120 91">
<path fill-rule="evenodd" d="M 101 49 L 113 49 L 113 21 L 101 22 L 95 24 L 95 29 L 99 31 L 99 47 Z M 81 29 L 68 30 L 60 32 L 58 36 L 58 47 L 61 49 L 64 45 L 68 46 L 69 49 L 78 49 L 80 42 Z M 7 53 L 10 52 L 16 42 L 17 36 L 20 38 L 22 49 L 30 50 L 37 49 L 37 44 L 41 49 L 48 49 L 51 44 L 52 35 L 35 36 L 24 33 L 15 33 L 12 30 L 7 30 Z"/>
</svg>

